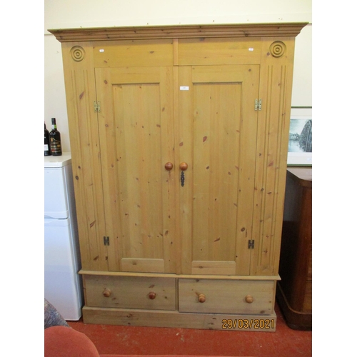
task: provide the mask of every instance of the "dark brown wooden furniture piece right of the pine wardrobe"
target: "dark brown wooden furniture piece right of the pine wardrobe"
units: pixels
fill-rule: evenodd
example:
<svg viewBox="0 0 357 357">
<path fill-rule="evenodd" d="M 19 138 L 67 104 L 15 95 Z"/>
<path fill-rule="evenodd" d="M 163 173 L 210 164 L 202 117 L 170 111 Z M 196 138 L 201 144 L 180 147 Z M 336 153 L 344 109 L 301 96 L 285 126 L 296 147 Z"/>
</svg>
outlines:
<svg viewBox="0 0 357 357">
<path fill-rule="evenodd" d="M 312 328 L 312 169 L 292 166 L 286 197 L 276 298 L 288 326 Z"/>
</svg>

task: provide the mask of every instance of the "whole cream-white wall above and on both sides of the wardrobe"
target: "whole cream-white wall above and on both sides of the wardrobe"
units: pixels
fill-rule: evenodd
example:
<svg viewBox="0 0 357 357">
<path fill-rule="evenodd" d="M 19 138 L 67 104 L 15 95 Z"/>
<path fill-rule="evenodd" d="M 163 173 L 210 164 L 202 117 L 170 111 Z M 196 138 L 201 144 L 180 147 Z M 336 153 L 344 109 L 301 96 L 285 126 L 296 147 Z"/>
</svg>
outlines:
<svg viewBox="0 0 357 357">
<path fill-rule="evenodd" d="M 45 0 L 44 119 L 56 117 L 70 151 L 61 44 L 47 29 L 176 24 L 310 22 L 312 0 Z M 311 104 L 311 25 L 296 38 L 293 106 Z"/>
</svg>

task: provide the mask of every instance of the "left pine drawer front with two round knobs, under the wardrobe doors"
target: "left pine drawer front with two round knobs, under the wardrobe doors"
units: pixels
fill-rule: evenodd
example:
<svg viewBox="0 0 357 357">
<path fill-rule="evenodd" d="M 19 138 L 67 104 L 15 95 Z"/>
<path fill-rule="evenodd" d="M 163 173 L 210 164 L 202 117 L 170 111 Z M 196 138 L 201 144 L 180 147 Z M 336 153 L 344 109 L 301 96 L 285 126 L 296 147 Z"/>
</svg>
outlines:
<svg viewBox="0 0 357 357">
<path fill-rule="evenodd" d="M 176 279 L 83 276 L 86 306 L 176 310 Z"/>
</svg>

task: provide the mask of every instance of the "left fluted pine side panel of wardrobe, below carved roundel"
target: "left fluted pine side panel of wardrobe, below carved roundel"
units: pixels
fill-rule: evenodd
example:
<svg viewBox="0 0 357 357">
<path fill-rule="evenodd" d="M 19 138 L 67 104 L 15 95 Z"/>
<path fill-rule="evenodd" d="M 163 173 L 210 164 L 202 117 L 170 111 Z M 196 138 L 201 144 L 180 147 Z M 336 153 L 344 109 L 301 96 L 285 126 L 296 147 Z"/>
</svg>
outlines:
<svg viewBox="0 0 357 357">
<path fill-rule="evenodd" d="M 83 49 L 86 61 L 74 61 L 73 51 Z M 104 196 L 97 116 L 94 112 L 96 87 L 91 44 L 63 44 L 69 136 L 76 196 L 76 213 L 81 247 L 81 265 L 92 270 L 108 270 L 103 236 Z"/>
</svg>

